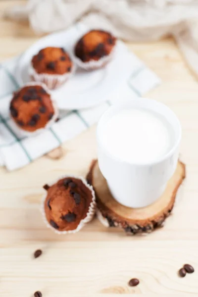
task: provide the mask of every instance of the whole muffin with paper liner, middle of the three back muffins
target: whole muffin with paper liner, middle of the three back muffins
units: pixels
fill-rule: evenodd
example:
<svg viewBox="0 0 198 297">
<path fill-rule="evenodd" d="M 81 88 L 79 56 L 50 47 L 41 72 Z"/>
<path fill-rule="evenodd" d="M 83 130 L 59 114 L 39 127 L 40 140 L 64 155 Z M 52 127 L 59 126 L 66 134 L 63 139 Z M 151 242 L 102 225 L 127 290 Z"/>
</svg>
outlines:
<svg viewBox="0 0 198 297">
<path fill-rule="evenodd" d="M 49 89 L 55 89 L 66 82 L 74 71 L 73 62 L 63 48 L 48 47 L 33 56 L 30 76 L 42 82 Z"/>
</svg>

